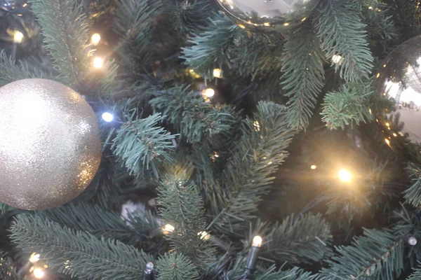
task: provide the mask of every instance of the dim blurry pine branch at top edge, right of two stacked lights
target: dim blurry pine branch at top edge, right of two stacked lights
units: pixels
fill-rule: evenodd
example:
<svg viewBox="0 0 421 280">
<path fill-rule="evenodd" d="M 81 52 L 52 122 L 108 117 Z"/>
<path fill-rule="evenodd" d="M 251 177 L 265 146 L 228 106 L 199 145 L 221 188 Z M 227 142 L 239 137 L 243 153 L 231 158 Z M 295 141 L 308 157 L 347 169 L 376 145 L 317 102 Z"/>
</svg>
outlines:
<svg viewBox="0 0 421 280">
<path fill-rule="evenodd" d="M 119 0 L 115 12 L 114 31 L 122 34 L 117 51 L 127 73 L 143 72 L 152 59 L 150 45 L 156 11 L 161 1 Z"/>
</svg>

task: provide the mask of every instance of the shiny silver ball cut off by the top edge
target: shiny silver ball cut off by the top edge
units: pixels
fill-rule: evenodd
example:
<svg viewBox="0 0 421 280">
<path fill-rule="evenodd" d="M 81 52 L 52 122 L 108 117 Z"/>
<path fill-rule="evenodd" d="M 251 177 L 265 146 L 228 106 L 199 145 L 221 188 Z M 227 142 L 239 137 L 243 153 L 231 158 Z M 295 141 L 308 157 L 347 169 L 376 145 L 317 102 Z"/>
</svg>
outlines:
<svg viewBox="0 0 421 280">
<path fill-rule="evenodd" d="M 316 1 L 308 0 L 218 0 L 222 11 L 241 28 L 281 32 L 305 21 Z"/>
</svg>

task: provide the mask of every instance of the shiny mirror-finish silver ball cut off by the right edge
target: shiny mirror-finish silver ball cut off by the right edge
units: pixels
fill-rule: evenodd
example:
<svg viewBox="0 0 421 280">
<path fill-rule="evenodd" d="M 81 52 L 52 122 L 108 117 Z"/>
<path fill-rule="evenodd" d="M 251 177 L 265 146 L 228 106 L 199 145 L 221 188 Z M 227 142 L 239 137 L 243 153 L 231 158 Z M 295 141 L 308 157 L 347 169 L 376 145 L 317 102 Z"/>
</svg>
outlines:
<svg viewBox="0 0 421 280">
<path fill-rule="evenodd" d="M 394 137 L 406 135 L 410 141 L 421 144 L 421 36 L 390 52 L 375 77 L 377 94 L 396 106 L 396 111 L 389 113 L 388 129 Z M 392 127 L 398 120 L 403 127 Z"/>
</svg>

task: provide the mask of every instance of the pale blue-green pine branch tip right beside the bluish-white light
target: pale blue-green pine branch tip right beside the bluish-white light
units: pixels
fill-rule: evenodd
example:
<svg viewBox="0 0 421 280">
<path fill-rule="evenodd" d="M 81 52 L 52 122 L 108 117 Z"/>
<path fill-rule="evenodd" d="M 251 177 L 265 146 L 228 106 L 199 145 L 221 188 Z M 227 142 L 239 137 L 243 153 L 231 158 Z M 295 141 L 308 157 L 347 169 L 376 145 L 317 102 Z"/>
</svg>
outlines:
<svg viewBox="0 0 421 280">
<path fill-rule="evenodd" d="M 136 119 L 133 113 L 126 118 L 112 144 L 114 155 L 131 174 L 140 176 L 150 170 L 158 177 L 162 163 L 173 160 L 171 139 L 175 136 L 157 126 L 162 120 L 159 113 L 144 119 Z"/>
</svg>

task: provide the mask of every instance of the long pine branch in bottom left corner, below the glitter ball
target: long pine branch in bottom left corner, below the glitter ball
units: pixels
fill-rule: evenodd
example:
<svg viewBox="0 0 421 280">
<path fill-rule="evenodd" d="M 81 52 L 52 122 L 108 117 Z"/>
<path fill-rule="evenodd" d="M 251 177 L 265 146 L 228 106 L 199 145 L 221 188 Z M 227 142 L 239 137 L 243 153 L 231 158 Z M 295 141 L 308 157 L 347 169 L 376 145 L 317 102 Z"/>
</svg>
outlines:
<svg viewBox="0 0 421 280">
<path fill-rule="evenodd" d="M 11 227 L 19 248 L 39 252 L 50 267 L 81 279 L 139 279 L 146 253 L 113 239 L 62 228 L 47 218 L 20 214 Z"/>
</svg>

